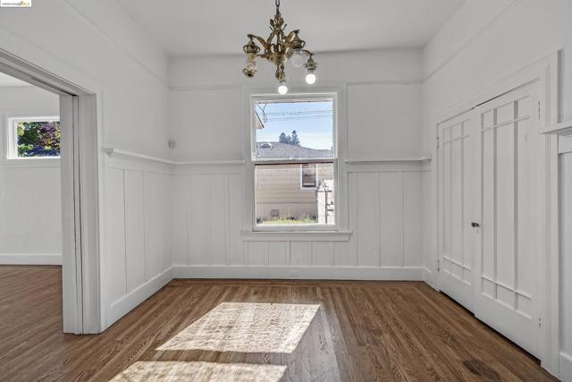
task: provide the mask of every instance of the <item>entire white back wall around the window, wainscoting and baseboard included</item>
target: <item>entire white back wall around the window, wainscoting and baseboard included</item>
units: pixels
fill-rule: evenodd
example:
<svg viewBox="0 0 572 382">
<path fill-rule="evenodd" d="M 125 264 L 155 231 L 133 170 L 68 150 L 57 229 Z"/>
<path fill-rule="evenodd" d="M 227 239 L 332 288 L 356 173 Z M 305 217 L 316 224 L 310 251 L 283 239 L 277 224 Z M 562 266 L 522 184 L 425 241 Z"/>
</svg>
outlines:
<svg viewBox="0 0 572 382">
<path fill-rule="evenodd" d="M 420 53 L 353 52 L 315 59 L 320 64 L 315 87 L 303 83 L 303 70 L 289 65 L 290 91 L 341 89 L 339 107 L 345 114 L 339 128 L 348 135 L 341 141 L 341 161 L 366 160 L 341 167 L 349 190 L 349 242 L 245 237 L 242 205 L 248 166 L 177 166 L 175 276 L 422 277 L 424 165 L 373 162 L 423 156 Z M 242 56 L 171 61 L 173 160 L 245 159 L 245 98 L 257 91 L 274 92 L 276 84 L 272 65 L 259 63 L 255 79 L 246 79 L 240 72 L 243 61 Z"/>
</svg>

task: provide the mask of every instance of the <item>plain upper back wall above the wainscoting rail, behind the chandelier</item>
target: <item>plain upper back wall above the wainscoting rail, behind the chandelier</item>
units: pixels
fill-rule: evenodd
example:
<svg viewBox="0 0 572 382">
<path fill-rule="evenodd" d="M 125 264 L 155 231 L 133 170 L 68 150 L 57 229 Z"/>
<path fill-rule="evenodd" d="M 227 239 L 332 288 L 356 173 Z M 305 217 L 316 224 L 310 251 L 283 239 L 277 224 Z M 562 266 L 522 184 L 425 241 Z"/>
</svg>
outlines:
<svg viewBox="0 0 572 382">
<path fill-rule="evenodd" d="M 287 65 L 290 91 L 347 88 L 349 157 L 421 156 L 421 55 L 419 51 L 377 51 L 316 55 L 314 87 L 304 71 Z M 244 57 L 174 59 L 169 65 L 172 158 L 224 160 L 242 157 L 245 128 L 242 94 L 274 92 L 272 65 L 258 64 L 257 76 L 241 72 Z M 254 90 L 256 91 L 256 90 Z"/>
</svg>

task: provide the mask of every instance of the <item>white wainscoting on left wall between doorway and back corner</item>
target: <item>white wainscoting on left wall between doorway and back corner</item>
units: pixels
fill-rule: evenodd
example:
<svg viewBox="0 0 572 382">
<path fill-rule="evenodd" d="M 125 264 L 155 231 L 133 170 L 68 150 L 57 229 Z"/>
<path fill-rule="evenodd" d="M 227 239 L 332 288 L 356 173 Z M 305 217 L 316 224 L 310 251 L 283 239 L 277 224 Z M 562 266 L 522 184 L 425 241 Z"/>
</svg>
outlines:
<svg viewBox="0 0 572 382">
<path fill-rule="evenodd" d="M 105 161 L 105 327 L 172 279 L 172 166 Z"/>
</svg>

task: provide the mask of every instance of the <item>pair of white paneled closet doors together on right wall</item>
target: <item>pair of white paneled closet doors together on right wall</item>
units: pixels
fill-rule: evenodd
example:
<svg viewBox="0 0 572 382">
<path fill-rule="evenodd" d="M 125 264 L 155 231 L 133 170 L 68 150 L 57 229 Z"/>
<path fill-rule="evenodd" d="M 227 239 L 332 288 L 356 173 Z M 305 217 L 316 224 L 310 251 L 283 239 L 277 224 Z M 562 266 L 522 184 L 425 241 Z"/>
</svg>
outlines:
<svg viewBox="0 0 572 382">
<path fill-rule="evenodd" d="M 546 143 L 540 82 L 438 125 L 439 287 L 539 356 Z"/>
</svg>

